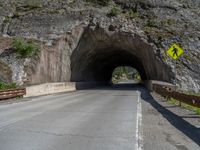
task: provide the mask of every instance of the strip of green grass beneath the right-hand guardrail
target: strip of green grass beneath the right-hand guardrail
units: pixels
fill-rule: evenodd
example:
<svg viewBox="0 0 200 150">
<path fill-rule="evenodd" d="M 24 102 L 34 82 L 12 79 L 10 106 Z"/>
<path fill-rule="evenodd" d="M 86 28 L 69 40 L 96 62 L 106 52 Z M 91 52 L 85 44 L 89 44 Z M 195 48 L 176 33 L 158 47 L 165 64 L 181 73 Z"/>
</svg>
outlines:
<svg viewBox="0 0 200 150">
<path fill-rule="evenodd" d="M 173 99 L 173 98 L 170 98 L 169 103 L 173 104 L 173 105 L 179 105 L 179 101 L 176 99 Z M 194 107 L 194 106 L 191 106 L 191 105 L 188 105 L 185 103 L 181 103 L 181 107 L 191 110 L 191 111 L 195 112 L 197 115 L 200 115 L 200 108 L 198 108 L 198 107 Z"/>
</svg>

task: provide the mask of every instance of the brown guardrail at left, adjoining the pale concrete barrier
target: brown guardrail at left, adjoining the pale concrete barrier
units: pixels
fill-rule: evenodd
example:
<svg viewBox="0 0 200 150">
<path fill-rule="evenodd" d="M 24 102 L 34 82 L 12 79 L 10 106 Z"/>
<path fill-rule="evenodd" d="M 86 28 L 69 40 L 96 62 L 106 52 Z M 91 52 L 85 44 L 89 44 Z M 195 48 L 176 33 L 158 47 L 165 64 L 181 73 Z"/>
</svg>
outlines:
<svg viewBox="0 0 200 150">
<path fill-rule="evenodd" d="M 0 100 L 21 97 L 26 94 L 25 88 L 0 90 Z"/>
</svg>

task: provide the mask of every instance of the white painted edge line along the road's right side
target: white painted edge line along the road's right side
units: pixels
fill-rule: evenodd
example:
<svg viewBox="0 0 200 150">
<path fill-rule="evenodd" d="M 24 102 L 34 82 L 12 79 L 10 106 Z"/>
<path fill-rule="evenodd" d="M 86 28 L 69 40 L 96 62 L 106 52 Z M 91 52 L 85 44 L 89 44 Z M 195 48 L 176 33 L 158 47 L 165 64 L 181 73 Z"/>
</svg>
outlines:
<svg viewBox="0 0 200 150">
<path fill-rule="evenodd" d="M 135 143 L 135 150 L 142 150 L 142 135 L 140 131 L 140 127 L 142 126 L 142 107 L 140 101 L 141 93 L 138 93 L 138 103 L 137 103 L 137 120 L 136 120 L 136 143 Z"/>
</svg>

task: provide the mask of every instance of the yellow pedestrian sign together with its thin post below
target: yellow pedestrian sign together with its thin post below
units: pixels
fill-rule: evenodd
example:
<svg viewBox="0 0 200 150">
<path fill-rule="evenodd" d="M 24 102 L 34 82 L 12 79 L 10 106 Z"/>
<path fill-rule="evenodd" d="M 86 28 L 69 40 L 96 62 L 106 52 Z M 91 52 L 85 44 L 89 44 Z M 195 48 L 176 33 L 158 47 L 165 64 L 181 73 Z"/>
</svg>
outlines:
<svg viewBox="0 0 200 150">
<path fill-rule="evenodd" d="M 177 74 L 177 59 L 181 57 L 184 53 L 184 50 L 178 45 L 178 44 L 172 44 L 172 46 L 167 50 L 167 54 L 174 60 L 174 73 L 175 73 L 175 90 L 177 88 L 177 79 L 176 79 L 176 74 Z M 179 103 L 181 106 L 181 102 Z"/>
</svg>

